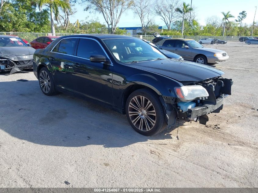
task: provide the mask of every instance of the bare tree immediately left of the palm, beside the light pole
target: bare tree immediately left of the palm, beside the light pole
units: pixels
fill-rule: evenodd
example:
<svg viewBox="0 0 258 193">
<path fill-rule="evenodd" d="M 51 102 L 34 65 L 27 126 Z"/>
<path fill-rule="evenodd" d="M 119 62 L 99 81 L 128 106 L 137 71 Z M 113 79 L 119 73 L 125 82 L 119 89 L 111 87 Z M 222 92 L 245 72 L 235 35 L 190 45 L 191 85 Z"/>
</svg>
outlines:
<svg viewBox="0 0 258 193">
<path fill-rule="evenodd" d="M 152 6 L 154 15 L 160 16 L 168 30 L 171 30 L 173 23 L 178 19 L 175 8 L 178 0 L 156 0 Z"/>
</svg>

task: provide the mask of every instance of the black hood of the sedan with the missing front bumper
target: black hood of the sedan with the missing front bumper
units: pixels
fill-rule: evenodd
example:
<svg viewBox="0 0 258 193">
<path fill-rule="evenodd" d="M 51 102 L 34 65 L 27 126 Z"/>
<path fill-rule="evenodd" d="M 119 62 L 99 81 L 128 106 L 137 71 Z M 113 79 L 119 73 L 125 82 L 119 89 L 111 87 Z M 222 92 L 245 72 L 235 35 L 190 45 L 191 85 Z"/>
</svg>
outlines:
<svg viewBox="0 0 258 193">
<path fill-rule="evenodd" d="M 149 62 L 126 64 L 134 68 L 162 74 L 178 81 L 198 82 L 201 80 L 219 77 L 224 72 L 216 68 L 188 61 L 162 59 Z"/>
</svg>

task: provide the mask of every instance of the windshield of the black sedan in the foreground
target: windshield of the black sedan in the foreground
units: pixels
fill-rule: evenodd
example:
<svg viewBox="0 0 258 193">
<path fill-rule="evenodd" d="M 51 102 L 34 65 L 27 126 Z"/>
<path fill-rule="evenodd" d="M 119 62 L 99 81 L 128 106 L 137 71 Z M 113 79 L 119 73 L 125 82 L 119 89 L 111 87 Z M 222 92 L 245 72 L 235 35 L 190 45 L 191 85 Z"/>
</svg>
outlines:
<svg viewBox="0 0 258 193">
<path fill-rule="evenodd" d="M 114 58 L 122 63 L 146 62 L 167 58 L 158 49 L 141 39 L 118 38 L 103 41 L 114 55 Z"/>
</svg>

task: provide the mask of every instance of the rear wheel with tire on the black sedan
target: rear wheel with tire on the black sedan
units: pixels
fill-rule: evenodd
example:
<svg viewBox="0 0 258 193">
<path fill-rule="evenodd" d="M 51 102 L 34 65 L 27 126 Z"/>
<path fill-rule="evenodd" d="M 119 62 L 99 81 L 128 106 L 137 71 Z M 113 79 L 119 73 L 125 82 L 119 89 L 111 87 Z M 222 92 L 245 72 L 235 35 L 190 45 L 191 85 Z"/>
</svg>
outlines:
<svg viewBox="0 0 258 193">
<path fill-rule="evenodd" d="M 42 81 L 42 80 L 45 80 L 45 81 Z M 38 82 L 39 82 L 39 87 L 41 91 L 45 95 L 51 96 L 51 95 L 57 94 L 56 86 L 54 84 L 52 74 L 49 72 L 49 70 L 46 67 L 43 67 L 42 69 L 40 69 L 38 73 Z"/>
</svg>

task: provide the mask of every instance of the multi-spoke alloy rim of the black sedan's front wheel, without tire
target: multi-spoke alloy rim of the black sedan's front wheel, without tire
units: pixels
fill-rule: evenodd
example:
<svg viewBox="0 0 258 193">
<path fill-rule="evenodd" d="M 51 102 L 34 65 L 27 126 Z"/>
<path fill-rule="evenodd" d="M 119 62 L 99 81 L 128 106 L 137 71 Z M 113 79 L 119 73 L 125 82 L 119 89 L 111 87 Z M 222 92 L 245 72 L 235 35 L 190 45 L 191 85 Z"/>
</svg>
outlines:
<svg viewBox="0 0 258 193">
<path fill-rule="evenodd" d="M 151 101 L 141 95 L 131 99 L 128 114 L 133 125 L 141 131 L 153 129 L 156 123 L 156 110 Z"/>
</svg>

